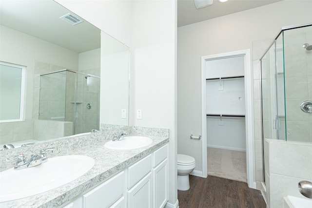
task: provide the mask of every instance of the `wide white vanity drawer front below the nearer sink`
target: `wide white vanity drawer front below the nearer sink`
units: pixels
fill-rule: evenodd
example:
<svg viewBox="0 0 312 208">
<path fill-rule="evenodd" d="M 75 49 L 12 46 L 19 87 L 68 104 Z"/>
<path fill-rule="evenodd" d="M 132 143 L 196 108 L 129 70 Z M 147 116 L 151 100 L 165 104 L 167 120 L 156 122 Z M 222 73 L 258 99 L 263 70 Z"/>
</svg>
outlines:
<svg viewBox="0 0 312 208">
<path fill-rule="evenodd" d="M 125 172 L 122 171 L 95 189 L 83 194 L 82 207 L 98 208 L 113 205 L 123 195 L 124 183 Z"/>
</svg>

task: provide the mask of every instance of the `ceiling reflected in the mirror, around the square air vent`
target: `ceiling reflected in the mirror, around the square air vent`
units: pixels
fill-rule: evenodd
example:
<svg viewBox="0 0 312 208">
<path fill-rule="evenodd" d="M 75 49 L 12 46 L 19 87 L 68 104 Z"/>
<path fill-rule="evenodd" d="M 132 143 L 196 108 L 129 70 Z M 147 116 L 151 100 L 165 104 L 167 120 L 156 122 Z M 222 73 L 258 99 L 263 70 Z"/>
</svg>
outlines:
<svg viewBox="0 0 312 208">
<path fill-rule="evenodd" d="M 85 20 L 77 25 L 71 25 L 59 19 L 68 13 L 75 15 L 54 0 L 0 2 L 1 25 L 77 53 L 99 48 L 100 30 Z"/>
</svg>

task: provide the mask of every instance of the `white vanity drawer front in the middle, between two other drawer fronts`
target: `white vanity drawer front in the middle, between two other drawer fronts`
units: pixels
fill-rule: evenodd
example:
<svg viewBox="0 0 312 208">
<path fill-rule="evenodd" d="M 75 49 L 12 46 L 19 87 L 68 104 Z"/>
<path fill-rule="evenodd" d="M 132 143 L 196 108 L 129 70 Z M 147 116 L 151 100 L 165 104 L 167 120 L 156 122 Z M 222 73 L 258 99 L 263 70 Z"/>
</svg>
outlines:
<svg viewBox="0 0 312 208">
<path fill-rule="evenodd" d="M 128 184 L 130 189 L 152 170 L 152 154 L 141 159 L 128 168 Z"/>
</svg>

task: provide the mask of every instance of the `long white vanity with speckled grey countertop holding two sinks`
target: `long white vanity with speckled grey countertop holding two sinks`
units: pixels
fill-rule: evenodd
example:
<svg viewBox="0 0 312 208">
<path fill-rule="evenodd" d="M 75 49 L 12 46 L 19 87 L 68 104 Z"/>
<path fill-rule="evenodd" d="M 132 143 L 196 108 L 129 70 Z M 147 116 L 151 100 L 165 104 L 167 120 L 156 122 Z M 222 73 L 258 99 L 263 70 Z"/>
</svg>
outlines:
<svg viewBox="0 0 312 208">
<path fill-rule="evenodd" d="M 77 141 L 87 143 L 92 139 L 105 138 L 105 141 L 96 145 L 77 145 L 72 151 L 55 152 L 50 155 L 50 157 L 61 155 L 92 157 L 95 160 L 94 167 L 78 179 L 44 193 L 2 202 L 0 207 L 164 207 L 168 200 L 168 130 L 165 130 L 164 133 L 158 129 L 158 133 L 149 132 L 147 134 L 130 131 L 129 135 L 145 135 L 153 140 L 152 144 L 133 150 L 105 148 L 104 144 L 109 141 L 110 135 L 111 132 L 98 132 L 80 136 L 80 140 L 74 137 Z M 47 144 L 44 145 L 46 147 Z M 58 149 L 59 144 L 54 145 Z M 20 151 L 22 150 L 20 149 Z"/>
</svg>

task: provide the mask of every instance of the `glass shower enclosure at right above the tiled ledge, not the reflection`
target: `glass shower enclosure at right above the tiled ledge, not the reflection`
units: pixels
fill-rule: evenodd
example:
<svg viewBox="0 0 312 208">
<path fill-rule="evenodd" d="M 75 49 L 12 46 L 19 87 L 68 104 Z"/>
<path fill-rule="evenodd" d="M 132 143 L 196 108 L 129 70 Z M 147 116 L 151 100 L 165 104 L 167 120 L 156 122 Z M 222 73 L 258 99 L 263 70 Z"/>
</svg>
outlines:
<svg viewBox="0 0 312 208">
<path fill-rule="evenodd" d="M 312 142 L 312 25 L 283 28 L 261 58 L 263 138 Z"/>
</svg>

